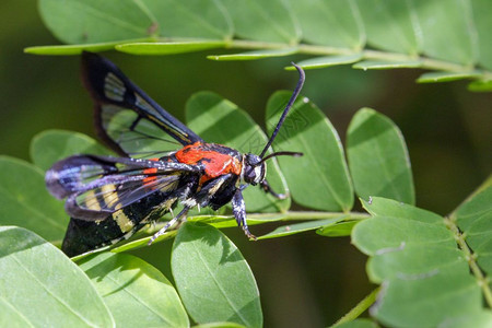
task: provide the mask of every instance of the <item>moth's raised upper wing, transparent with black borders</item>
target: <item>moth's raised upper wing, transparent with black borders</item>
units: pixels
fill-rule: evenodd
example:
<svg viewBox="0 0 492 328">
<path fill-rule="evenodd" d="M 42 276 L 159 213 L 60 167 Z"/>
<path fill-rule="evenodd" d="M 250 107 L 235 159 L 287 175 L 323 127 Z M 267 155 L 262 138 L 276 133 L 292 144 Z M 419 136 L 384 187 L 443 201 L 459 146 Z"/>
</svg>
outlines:
<svg viewBox="0 0 492 328">
<path fill-rule="evenodd" d="M 177 145 L 202 141 L 109 60 L 84 51 L 82 80 L 95 103 L 96 130 L 118 154 L 159 157 Z"/>
</svg>

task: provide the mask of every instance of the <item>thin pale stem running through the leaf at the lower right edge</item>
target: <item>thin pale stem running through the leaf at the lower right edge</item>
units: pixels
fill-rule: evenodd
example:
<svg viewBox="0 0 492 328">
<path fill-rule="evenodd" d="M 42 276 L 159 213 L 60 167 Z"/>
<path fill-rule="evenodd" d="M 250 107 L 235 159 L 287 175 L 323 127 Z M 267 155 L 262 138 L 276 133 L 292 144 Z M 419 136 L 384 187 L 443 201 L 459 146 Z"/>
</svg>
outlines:
<svg viewBox="0 0 492 328">
<path fill-rule="evenodd" d="M 489 307 L 492 307 L 492 291 L 489 285 L 489 278 L 483 274 L 482 270 L 477 263 L 477 256 L 473 254 L 473 251 L 465 241 L 466 233 L 461 233 L 461 231 L 458 229 L 454 216 L 444 218 L 444 223 L 455 235 L 456 243 L 458 244 L 461 251 L 465 253 L 465 258 L 468 260 L 471 272 L 473 272 L 473 276 L 477 278 L 479 285 L 482 289 L 487 304 L 489 305 Z"/>
</svg>

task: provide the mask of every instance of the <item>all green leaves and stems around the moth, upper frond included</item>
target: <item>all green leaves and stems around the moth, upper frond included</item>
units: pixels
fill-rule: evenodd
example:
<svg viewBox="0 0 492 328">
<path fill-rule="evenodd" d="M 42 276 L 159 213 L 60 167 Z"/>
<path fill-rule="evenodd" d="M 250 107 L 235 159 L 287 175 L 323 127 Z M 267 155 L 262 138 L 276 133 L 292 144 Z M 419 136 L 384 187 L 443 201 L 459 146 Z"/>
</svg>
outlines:
<svg viewBox="0 0 492 328">
<path fill-rule="evenodd" d="M 419 83 L 471 79 L 469 90 L 492 90 L 489 0 L 38 3 L 47 27 L 67 45 L 27 48 L 31 54 L 116 49 L 171 55 L 241 48 L 246 50 L 208 58 L 256 60 L 304 54 L 312 56 L 298 62 L 305 69 L 339 65 L 362 70 L 429 69 Z M 269 99 L 268 133 L 290 94 L 278 92 Z M 191 96 L 186 118 L 204 140 L 244 153 L 259 153 L 267 141 L 246 112 L 214 93 Z M 159 142 L 151 140 L 144 148 L 161 149 Z M 305 97 L 295 102 L 273 148 L 304 156 L 268 161 L 270 185 L 291 198 L 278 200 L 255 187 L 245 190 L 250 225 L 283 222 L 258 239 L 313 231 L 324 237 L 350 235 L 370 257 L 370 280 L 380 285 L 337 327 L 368 328 L 378 323 L 490 327 L 492 178 L 447 216 L 419 209 L 407 145 L 389 118 L 370 108 L 359 110 L 343 150 L 331 122 Z M 263 325 L 249 265 L 218 230 L 236 226 L 226 214 L 230 209 L 194 212 L 179 230 L 156 241 L 174 238 L 166 263 L 172 282 L 151 263 L 127 254 L 147 247 L 149 236 L 142 234 L 152 234 L 161 224 L 126 244 L 72 261 L 48 243 L 59 243 L 68 218 L 62 202 L 46 191 L 44 171 L 78 153 L 112 154 L 87 136 L 49 130 L 33 139 L 34 165 L 0 157 L 0 326 Z M 354 196 L 366 213 L 353 211 Z M 291 202 L 308 211 L 292 211 Z M 356 319 L 367 308 L 372 320 Z"/>
</svg>

